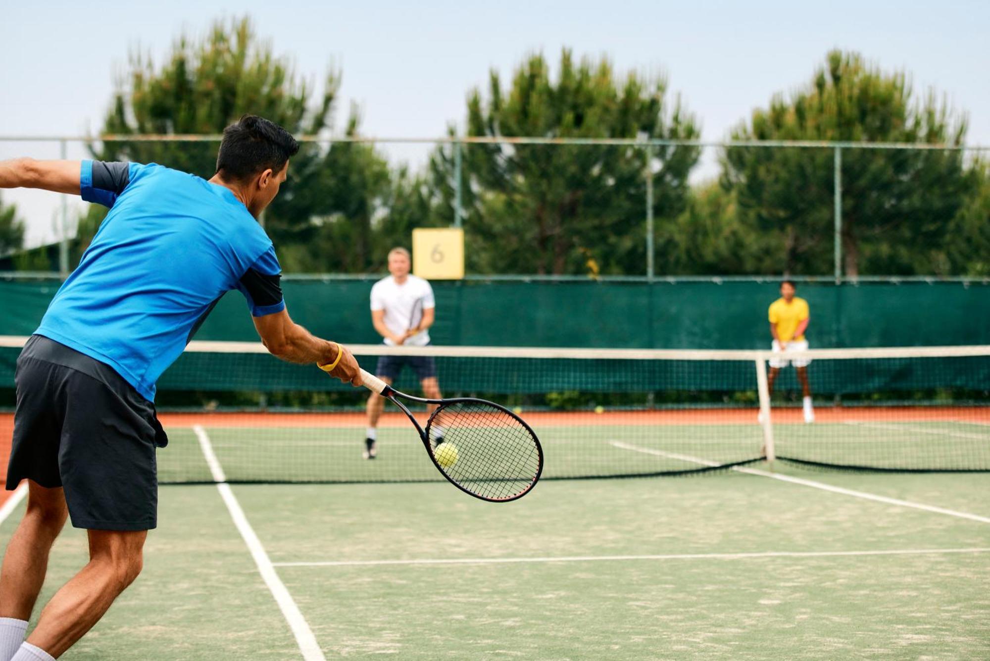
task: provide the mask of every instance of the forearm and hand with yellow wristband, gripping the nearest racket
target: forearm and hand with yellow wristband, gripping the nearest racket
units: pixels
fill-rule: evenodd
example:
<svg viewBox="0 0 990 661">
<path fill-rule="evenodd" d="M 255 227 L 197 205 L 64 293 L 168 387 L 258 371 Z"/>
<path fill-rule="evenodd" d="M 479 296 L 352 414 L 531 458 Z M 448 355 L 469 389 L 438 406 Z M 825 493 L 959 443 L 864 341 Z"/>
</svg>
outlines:
<svg viewBox="0 0 990 661">
<path fill-rule="evenodd" d="M 317 363 L 321 366 L 336 362 L 331 376 L 353 386 L 361 385 L 357 360 L 343 344 L 317 337 L 289 319 L 285 310 L 251 319 L 261 343 L 273 356 L 288 362 Z M 339 356 L 339 352 L 343 355 Z"/>
</svg>

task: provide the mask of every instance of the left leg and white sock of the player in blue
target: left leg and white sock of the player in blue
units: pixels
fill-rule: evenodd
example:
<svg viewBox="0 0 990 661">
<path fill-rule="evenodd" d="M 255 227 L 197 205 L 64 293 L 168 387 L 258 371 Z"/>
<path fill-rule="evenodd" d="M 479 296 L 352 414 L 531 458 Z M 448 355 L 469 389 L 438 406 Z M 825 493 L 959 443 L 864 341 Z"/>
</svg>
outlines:
<svg viewBox="0 0 990 661">
<path fill-rule="evenodd" d="M 28 481 L 28 507 L 7 544 L 0 570 L 0 658 L 11 658 L 24 642 L 45 583 L 51 544 L 67 516 L 60 487 L 46 489 Z"/>
</svg>

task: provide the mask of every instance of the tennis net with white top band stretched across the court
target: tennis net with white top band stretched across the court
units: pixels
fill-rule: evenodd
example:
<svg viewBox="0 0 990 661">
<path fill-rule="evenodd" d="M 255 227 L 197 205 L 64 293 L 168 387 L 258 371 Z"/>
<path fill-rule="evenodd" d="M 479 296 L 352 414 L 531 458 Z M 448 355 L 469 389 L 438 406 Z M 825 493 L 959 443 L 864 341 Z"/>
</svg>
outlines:
<svg viewBox="0 0 990 661">
<path fill-rule="evenodd" d="M 6 440 L 25 339 L 0 338 Z M 446 397 L 481 397 L 517 411 L 544 444 L 545 478 L 672 475 L 765 459 L 864 470 L 990 470 L 990 346 L 784 356 L 812 360 L 812 424 L 793 367 L 781 369 L 768 392 L 766 351 L 351 348 L 372 372 L 384 355 L 433 358 Z M 420 392 L 409 368 L 396 387 Z M 443 479 L 412 425 L 388 403 L 378 457 L 362 458 L 366 399 L 364 389 L 281 362 L 260 344 L 192 342 L 158 383 L 156 405 L 169 436 L 158 452 L 159 479 Z"/>
</svg>

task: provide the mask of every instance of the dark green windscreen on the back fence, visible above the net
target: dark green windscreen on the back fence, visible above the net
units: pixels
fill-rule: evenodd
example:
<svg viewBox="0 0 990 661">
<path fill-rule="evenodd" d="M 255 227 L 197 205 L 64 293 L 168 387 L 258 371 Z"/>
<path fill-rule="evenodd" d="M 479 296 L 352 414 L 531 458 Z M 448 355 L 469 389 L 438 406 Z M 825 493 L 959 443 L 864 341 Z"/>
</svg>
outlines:
<svg viewBox="0 0 990 661">
<path fill-rule="evenodd" d="M 376 343 L 373 278 L 284 280 L 292 318 L 325 337 Z M 0 277 L 0 334 L 30 334 L 57 280 Z M 434 282 L 435 344 L 762 349 L 777 282 Z M 812 348 L 990 343 L 990 282 L 799 283 Z M 243 297 L 226 295 L 196 336 L 256 340 Z"/>
</svg>

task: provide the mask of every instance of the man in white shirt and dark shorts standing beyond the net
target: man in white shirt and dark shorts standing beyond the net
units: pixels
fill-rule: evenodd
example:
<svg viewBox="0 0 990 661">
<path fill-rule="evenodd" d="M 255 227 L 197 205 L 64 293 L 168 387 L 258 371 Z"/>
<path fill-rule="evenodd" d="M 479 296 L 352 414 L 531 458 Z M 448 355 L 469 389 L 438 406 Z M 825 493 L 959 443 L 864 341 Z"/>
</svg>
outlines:
<svg viewBox="0 0 990 661">
<path fill-rule="evenodd" d="M 428 330 L 433 326 L 435 309 L 433 288 L 430 283 L 409 273 L 412 259 L 409 250 L 395 247 L 388 253 L 388 277 L 382 278 L 371 288 L 371 323 L 374 330 L 385 338 L 389 346 L 426 346 L 430 343 Z M 437 363 L 433 356 L 381 356 L 375 375 L 391 385 L 402 368 L 409 365 L 416 372 L 428 399 L 441 398 L 437 381 Z M 378 419 L 385 400 L 377 393 L 368 398 L 368 428 L 364 439 L 364 458 L 374 459 L 378 454 Z M 436 409 L 430 407 L 430 412 Z M 439 429 L 440 427 L 434 427 Z M 435 444 L 443 436 L 433 439 Z"/>
</svg>

